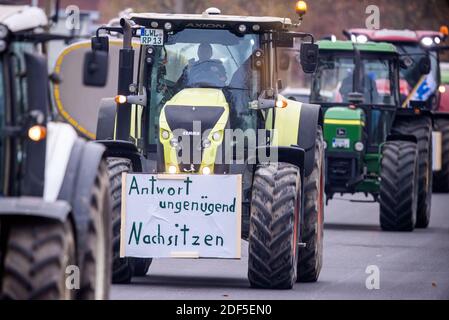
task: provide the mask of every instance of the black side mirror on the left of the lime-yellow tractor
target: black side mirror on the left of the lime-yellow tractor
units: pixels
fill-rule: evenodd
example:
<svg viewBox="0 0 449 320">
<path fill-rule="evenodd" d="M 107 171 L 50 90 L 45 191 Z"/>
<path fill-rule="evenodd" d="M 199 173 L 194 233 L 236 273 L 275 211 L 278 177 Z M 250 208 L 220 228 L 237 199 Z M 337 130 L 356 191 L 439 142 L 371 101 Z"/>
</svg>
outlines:
<svg viewBox="0 0 449 320">
<path fill-rule="evenodd" d="M 104 87 L 108 79 L 109 38 L 92 37 L 92 50 L 84 55 L 83 83 L 90 87 Z"/>
</svg>

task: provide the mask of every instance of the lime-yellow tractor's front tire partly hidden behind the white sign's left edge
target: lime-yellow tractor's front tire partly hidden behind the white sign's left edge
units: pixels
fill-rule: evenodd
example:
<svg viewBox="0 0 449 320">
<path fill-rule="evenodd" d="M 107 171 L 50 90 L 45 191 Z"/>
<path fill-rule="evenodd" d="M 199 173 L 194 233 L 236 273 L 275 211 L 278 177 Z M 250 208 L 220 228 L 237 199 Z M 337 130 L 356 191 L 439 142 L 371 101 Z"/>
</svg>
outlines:
<svg viewBox="0 0 449 320">
<path fill-rule="evenodd" d="M 122 173 L 130 170 L 131 161 L 129 159 L 108 159 L 112 197 L 112 283 L 129 283 L 133 276 L 145 275 L 151 264 L 151 259 L 120 258 Z"/>
</svg>

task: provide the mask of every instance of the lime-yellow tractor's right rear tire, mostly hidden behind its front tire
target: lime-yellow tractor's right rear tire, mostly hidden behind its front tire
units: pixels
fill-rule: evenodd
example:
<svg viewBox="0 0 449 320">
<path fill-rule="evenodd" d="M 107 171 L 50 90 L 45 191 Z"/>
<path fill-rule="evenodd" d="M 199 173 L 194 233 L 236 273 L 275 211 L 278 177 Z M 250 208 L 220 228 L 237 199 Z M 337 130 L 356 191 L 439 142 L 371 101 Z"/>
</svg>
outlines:
<svg viewBox="0 0 449 320">
<path fill-rule="evenodd" d="M 315 143 L 315 163 L 312 173 L 304 181 L 304 218 L 301 224 L 298 281 L 315 282 L 323 265 L 324 224 L 324 146 L 323 133 L 318 129 Z"/>
</svg>

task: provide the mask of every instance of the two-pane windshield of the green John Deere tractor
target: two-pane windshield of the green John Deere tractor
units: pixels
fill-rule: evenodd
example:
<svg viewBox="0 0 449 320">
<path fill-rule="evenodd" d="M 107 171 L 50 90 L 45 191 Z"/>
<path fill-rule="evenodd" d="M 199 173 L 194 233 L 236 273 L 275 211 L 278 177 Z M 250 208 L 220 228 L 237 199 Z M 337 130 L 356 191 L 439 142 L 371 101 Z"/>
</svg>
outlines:
<svg viewBox="0 0 449 320">
<path fill-rule="evenodd" d="M 393 63 L 388 58 L 362 57 L 363 104 L 395 105 Z M 322 56 L 314 76 L 311 102 L 348 103 L 354 92 L 354 59 L 345 56 Z"/>
</svg>

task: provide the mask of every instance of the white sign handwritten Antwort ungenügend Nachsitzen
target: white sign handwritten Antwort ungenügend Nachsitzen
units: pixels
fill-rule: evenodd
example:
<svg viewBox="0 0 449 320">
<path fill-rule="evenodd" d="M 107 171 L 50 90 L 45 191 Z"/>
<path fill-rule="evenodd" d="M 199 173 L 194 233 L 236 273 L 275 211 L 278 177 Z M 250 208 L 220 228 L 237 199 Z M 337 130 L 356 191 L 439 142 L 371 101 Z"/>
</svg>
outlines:
<svg viewBox="0 0 449 320">
<path fill-rule="evenodd" d="M 240 258 L 241 179 L 124 173 L 120 256 Z"/>
</svg>

